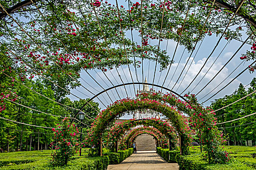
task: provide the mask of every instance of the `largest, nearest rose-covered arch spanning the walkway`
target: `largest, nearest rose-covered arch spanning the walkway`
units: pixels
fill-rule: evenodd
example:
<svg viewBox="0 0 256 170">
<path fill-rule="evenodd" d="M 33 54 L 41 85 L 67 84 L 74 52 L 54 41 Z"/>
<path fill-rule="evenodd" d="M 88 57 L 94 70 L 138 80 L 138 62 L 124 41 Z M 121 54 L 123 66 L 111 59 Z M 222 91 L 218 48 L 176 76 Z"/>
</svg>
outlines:
<svg viewBox="0 0 256 170">
<path fill-rule="evenodd" d="M 92 145 L 99 145 L 101 142 L 102 134 L 106 131 L 108 125 L 110 125 L 115 118 L 123 116 L 127 111 L 135 111 L 140 109 L 151 109 L 156 112 L 162 113 L 168 117 L 173 125 L 175 131 L 179 134 L 183 141 L 183 151 L 187 154 L 187 147 L 190 143 L 190 127 L 188 121 L 181 116 L 175 108 L 155 100 L 149 99 L 123 99 L 110 105 L 107 109 L 103 110 L 94 123 L 90 133 L 88 133 L 87 140 Z M 184 154 L 185 154 L 184 153 Z"/>
</svg>

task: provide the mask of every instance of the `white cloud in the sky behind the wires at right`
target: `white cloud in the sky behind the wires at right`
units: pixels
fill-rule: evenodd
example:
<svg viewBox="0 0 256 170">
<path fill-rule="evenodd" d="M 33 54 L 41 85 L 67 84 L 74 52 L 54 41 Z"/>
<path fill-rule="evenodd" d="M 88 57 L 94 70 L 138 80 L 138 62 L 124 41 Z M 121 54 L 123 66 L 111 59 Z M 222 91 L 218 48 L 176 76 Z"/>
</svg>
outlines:
<svg viewBox="0 0 256 170">
<path fill-rule="evenodd" d="M 226 54 L 228 55 L 228 54 Z M 188 60 L 188 58 L 187 58 Z M 187 61 L 186 60 L 186 61 Z M 177 90 L 178 86 L 180 85 L 179 89 L 177 90 L 178 92 L 182 92 L 193 80 L 193 78 L 197 75 L 197 73 L 199 72 L 200 68 L 202 68 L 203 64 L 206 61 L 206 58 L 202 58 L 201 60 L 198 61 L 192 61 L 193 58 L 190 58 L 188 65 L 186 66 L 186 68 L 184 69 L 181 78 L 179 79 L 178 83 L 175 85 L 175 87 L 173 88 L 174 91 Z M 192 65 L 189 68 L 189 65 Z M 210 58 L 208 60 L 208 62 L 206 63 L 205 67 L 202 69 L 202 71 L 200 72 L 200 74 L 197 76 L 197 78 L 194 80 L 194 82 L 192 83 L 192 85 L 185 91 L 192 91 L 192 89 L 195 87 L 195 85 L 197 85 L 197 83 L 203 78 L 203 76 L 206 74 L 206 72 L 208 71 L 208 69 L 212 66 L 214 62 L 214 58 Z M 170 71 L 170 75 L 168 76 L 168 78 L 171 79 L 172 73 L 174 71 L 174 69 L 177 67 L 177 64 L 173 64 L 173 67 L 171 68 Z M 220 68 L 222 68 L 224 65 L 221 61 L 217 61 L 213 64 L 212 68 L 207 72 L 207 74 L 205 75 L 205 77 L 202 79 L 202 81 L 196 86 L 196 88 L 192 91 L 192 93 L 197 93 L 198 91 L 200 91 L 215 75 L 216 73 L 220 70 Z M 171 80 L 170 86 L 169 88 L 175 84 L 175 82 L 177 81 L 177 78 L 179 76 L 179 74 L 181 73 L 182 69 L 185 67 L 185 63 L 180 63 L 177 71 L 173 77 L 173 79 Z M 172 71 L 173 70 L 173 71 Z M 188 70 L 188 72 L 187 72 Z M 185 76 L 183 82 L 181 83 L 183 77 Z M 209 93 L 213 88 L 215 88 L 217 85 L 219 85 L 228 75 L 229 75 L 230 71 L 227 67 L 223 68 L 222 71 L 213 79 L 213 81 L 207 85 L 202 92 L 200 92 L 198 94 L 198 98 L 200 99 L 201 97 L 203 97 L 205 94 Z M 166 81 L 165 85 L 168 85 L 168 83 L 170 82 L 170 79 Z M 230 82 L 233 79 L 233 76 L 229 77 L 227 80 L 225 80 L 220 86 L 218 86 L 211 94 L 214 94 L 215 92 L 217 92 L 220 88 L 222 88 L 224 85 L 226 85 L 228 82 Z M 229 85 L 227 88 L 225 88 L 223 91 L 225 91 L 225 94 L 230 94 L 232 92 L 234 92 L 234 90 L 237 88 L 237 86 L 239 85 L 240 81 L 235 80 L 231 85 Z M 211 94 L 209 96 L 207 96 L 204 99 L 208 99 L 208 97 L 211 97 Z M 222 94 L 220 92 L 220 94 Z M 203 100 L 204 101 L 204 100 Z M 202 102 L 202 101 L 200 101 Z"/>
</svg>

